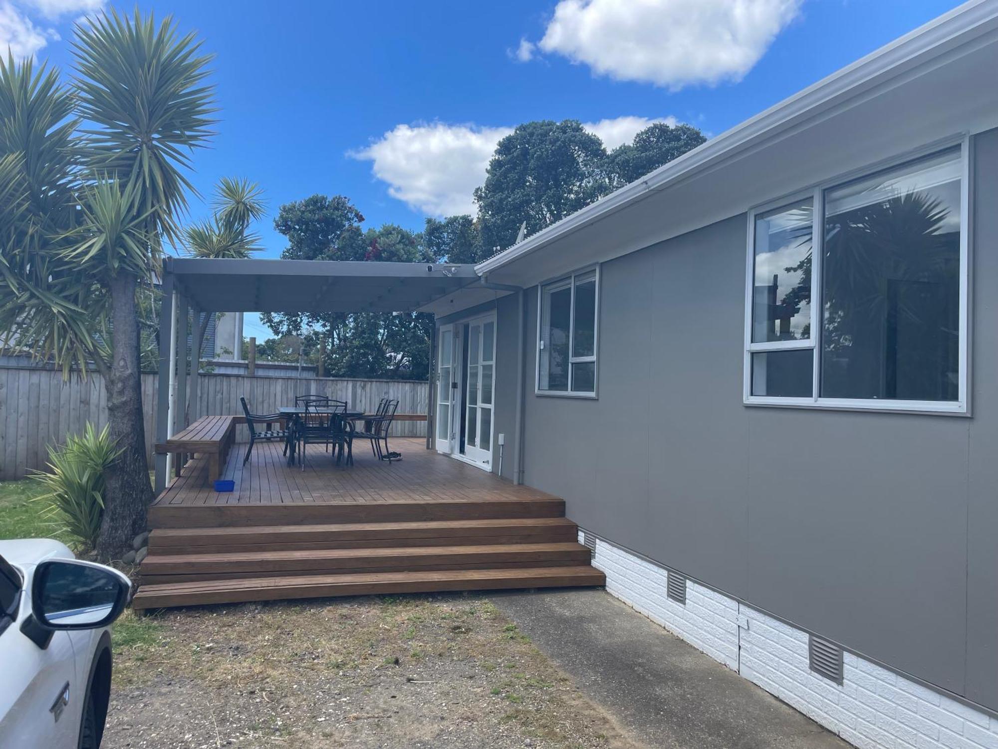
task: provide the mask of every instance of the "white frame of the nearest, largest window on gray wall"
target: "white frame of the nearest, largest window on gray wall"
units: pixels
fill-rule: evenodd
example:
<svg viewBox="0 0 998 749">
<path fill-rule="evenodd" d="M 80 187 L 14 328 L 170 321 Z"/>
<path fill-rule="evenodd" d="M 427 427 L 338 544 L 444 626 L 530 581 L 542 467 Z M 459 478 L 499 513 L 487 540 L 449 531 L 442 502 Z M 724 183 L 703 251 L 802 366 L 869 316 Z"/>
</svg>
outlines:
<svg viewBox="0 0 998 749">
<path fill-rule="evenodd" d="M 825 180 L 805 190 L 790 193 L 778 200 L 768 201 L 749 210 L 749 231 L 746 262 L 746 309 L 745 309 L 745 361 L 743 381 L 743 402 L 746 405 L 780 406 L 790 408 L 832 408 L 838 410 L 907 411 L 913 413 L 941 413 L 951 415 L 970 414 L 970 182 L 971 145 L 967 134 L 933 143 L 914 152 L 885 160 L 883 162 L 853 170 L 834 179 Z M 958 383 L 959 394 L 956 400 L 891 400 L 887 398 L 832 398 L 820 396 L 821 376 L 821 258 L 824 246 L 824 194 L 844 183 L 862 177 L 872 176 L 887 169 L 902 167 L 910 162 L 931 156 L 959 146 L 961 159 L 960 175 L 960 343 Z M 788 208 L 794 203 L 808 198 L 812 201 L 811 212 L 811 301 L 810 338 L 806 340 L 774 341 L 752 343 L 752 297 L 755 270 L 755 218 L 758 214 Z M 811 350 L 812 378 L 810 397 L 787 397 L 779 395 L 753 395 L 751 392 L 752 354 L 787 350 Z"/>
</svg>

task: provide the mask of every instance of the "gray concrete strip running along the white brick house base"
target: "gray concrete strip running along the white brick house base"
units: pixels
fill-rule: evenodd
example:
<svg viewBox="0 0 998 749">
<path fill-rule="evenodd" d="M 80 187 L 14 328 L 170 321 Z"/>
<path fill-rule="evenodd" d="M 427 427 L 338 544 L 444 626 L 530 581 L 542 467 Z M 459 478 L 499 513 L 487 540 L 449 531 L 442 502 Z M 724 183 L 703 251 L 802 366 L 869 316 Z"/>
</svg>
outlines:
<svg viewBox="0 0 998 749">
<path fill-rule="evenodd" d="M 626 734 L 649 747 L 849 747 L 603 590 L 489 597 Z"/>
</svg>

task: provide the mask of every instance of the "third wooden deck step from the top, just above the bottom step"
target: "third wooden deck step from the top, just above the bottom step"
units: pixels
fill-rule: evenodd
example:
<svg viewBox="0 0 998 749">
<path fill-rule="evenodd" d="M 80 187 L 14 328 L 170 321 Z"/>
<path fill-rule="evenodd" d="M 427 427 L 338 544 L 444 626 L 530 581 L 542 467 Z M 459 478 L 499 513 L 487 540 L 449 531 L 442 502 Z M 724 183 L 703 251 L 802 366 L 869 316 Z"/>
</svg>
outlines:
<svg viewBox="0 0 998 749">
<path fill-rule="evenodd" d="M 143 584 L 193 582 L 246 576 L 360 574 L 421 569 L 554 567 L 587 563 L 590 550 L 576 541 L 476 546 L 150 554 L 142 562 Z"/>
</svg>

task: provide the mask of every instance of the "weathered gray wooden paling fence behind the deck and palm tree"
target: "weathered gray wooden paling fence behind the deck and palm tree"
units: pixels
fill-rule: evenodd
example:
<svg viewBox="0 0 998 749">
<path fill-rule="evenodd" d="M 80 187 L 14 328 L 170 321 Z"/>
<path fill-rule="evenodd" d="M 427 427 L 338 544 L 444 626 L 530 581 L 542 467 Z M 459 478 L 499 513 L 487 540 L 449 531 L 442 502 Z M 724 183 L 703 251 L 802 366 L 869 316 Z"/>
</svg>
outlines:
<svg viewBox="0 0 998 749">
<path fill-rule="evenodd" d="M 153 456 L 156 436 L 156 387 L 159 375 L 142 375 L 146 452 Z M 189 380 L 190 386 L 190 380 Z M 293 405 L 305 393 L 346 400 L 351 409 L 372 411 L 382 397 L 397 398 L 399 413 L 425 413 L 426 382 L 397 379 L 333 379 L 329 377 L 250 377 L 201 375 L 198 415 L 242 413 L 245 395 L 257 413 Z M 21 478 L 42 469 L 46 445 L 62 444 L 67 434 L 83 430 L 87 421 L 98 427 L 108 420 L 108 402 L 101 375 L 87 379 L 51 370 L 0 366 L 0 480 Z M 240 429 L 246 429 L 241 426 Z M 396 421 L 395 436 L 424 436 L 425 421 Z M 246 438 L 244 433 L 239 438 Z"/>
</svg>

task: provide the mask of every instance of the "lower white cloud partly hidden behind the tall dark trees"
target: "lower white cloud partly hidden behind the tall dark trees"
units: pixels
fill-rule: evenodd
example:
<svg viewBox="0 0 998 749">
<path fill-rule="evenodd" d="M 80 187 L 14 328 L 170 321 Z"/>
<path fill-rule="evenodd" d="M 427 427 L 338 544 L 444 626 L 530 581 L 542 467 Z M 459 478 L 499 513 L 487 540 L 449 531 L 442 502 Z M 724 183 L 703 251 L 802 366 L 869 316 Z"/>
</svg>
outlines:
<svg viewBox="0 0 998 749">
<path fill-rule="evenodd" d="M 618 117 L 583 123 L 614 149 L 630 143 L 653 122 L 676 124 L 675 117 Z M 430 216 L 475 212 L 472 193 L 485 182 L 489 160 L 507 127 L 426 123 L 397 125 L 367 148 L 347 156 L 371 162 L 371 173 L 388 185 L 392 198 Z"/>
</svg>

